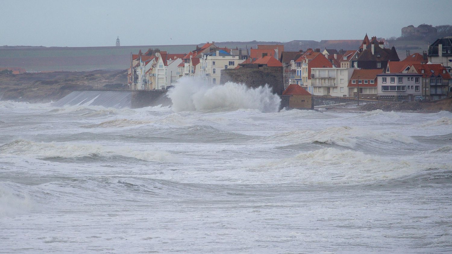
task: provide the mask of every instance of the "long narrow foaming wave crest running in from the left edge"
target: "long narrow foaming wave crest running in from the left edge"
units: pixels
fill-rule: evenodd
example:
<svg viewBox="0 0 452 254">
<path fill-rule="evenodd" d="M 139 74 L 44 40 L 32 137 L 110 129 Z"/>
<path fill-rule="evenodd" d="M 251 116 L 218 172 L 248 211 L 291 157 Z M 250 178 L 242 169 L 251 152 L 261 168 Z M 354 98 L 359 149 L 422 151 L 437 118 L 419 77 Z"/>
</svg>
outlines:
<svg viewBox="0 0 452 254">
<path fill-rule="evenodd" d="M 138 151 L 127 146 L 102 146 L 99 144 L 33 142 L 14 140 L 0 146 L 0 154 L 24 155 L 32 158 L 80 158 L 85 156 L 124 156 L 146 161 L 175 162 L 174 155 L 166 151 Z"/>
</svg>

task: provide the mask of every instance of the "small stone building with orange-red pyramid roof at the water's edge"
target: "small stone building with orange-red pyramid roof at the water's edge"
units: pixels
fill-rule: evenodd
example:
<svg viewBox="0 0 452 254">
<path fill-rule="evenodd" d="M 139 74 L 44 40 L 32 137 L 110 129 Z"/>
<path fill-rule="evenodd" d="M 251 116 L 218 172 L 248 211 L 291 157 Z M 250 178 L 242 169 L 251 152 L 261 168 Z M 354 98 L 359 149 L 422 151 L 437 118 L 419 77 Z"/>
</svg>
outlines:
<svg viewBox="0 0 452 254">
<path fill-rule="evenodd" d="M 291 84 L 282 93 L 284 107 L 297 109 L 313 109 L 312 95 L 299 85 Z"/>
</svg>

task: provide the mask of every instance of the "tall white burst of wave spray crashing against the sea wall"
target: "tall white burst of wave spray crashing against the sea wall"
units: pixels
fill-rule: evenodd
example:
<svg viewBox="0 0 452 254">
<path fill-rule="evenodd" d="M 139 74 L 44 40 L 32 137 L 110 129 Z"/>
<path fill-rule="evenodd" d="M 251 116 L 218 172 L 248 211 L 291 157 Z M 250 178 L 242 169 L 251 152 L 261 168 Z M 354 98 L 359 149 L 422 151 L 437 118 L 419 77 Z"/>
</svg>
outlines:
<svg viewBox="0 0 452 254">
<path fill-rule="evenodd" d="M 204 80 L 182 78 L 168 91 L 173 109 L 195 111 L 210 109 L 257 109 L 261 112 L 278 112 L 281 99 L 268 85 L 250 88 L 243 84 L 227 82 L 224 85 L 207 85 Z"/>
</svg>

